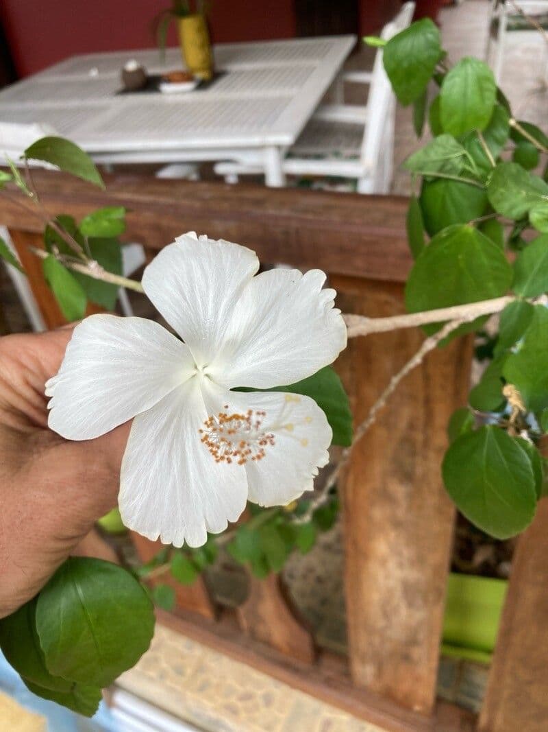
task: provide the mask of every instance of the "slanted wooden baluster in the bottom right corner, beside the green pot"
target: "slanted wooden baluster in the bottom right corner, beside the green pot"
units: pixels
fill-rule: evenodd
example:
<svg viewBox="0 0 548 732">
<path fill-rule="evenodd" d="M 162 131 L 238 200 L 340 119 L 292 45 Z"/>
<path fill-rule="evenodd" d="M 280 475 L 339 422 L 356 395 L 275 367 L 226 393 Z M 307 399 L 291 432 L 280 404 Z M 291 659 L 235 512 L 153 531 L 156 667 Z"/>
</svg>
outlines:
<svg viewBox="0 0 548 732">
<path fill-rule="evenodd" d="M 481 732 L 548 728 L 548 499 L 517 543 Z"/>
</svg>

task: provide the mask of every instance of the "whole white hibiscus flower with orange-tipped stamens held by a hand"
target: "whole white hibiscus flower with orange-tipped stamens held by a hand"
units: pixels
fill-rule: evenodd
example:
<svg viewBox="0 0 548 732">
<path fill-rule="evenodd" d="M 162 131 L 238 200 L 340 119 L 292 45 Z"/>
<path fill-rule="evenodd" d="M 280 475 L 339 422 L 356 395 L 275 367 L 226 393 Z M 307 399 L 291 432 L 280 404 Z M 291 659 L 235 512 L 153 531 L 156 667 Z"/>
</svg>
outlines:
<svg viewBox="0 0 548 732">
<path fill-rule="evenodd" d="M 49 425 L 88 440 L 133 419 L 121 468 L 123 523 L 197 547 L 246 501 L 311 490 L 332 432 L 309 397 L 233 392 L 294 384 L 330 364 L 346 327 L 317 269 L 273 269 L 239 244 L 191 232 L 145 269 L 142 286 L 183 341 L 154 321 L 91 315 L 46 384 Z"/>
</svg>

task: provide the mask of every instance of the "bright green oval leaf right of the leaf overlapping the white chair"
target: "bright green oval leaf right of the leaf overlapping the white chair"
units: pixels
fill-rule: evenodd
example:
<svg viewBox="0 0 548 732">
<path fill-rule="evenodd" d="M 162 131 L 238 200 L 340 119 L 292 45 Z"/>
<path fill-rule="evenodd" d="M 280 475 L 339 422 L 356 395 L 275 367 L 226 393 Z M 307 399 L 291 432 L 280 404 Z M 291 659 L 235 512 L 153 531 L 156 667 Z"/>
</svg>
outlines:
<svg viewBox="0 0 548 732">
<path fill-rule="evenodd" d="M 483 61 L 465 56 L 447 72 L 440 97 L 445 132 L 458 137 L 470 130 L 484 130 L 497 98 L 495 77 Z"/>
</svg>

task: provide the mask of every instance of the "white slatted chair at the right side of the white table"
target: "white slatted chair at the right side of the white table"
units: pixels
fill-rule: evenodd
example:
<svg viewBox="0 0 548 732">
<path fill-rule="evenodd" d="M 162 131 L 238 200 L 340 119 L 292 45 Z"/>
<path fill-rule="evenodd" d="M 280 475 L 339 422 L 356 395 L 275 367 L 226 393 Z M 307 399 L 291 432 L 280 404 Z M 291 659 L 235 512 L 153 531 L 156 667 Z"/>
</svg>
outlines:
<svg viewBox="0 0 548 732">
<path fill-rule="evenodd" d="M 414 3 L 407 2 L 381 32 L 384 40 L 411 22 Z M 354 179 L 359 193 L 388 193 L 392 180 L 395 96 L 378 49 L 373 71 L 349 72 L 345 81 L 369 83 L 367 106 L 323 105 L 314 114 L 282 163 L 283 173 Z M 264 173 L 262 160 L 217 163 L 227 182 L 237 176 Z"/>
</svg>

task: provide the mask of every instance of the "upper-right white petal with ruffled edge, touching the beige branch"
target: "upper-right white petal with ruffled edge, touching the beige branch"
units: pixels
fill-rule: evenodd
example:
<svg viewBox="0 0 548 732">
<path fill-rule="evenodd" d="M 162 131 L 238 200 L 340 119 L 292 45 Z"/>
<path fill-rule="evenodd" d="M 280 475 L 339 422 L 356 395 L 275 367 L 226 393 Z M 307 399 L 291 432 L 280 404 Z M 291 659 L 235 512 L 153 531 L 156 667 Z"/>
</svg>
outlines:
<svg viewBox="0 0 548 732">
<path fill-rule="evenodd" d="M 346 326 L 333 307 L 335 290 L 312 269 L 271 269 L 251 280 L 235 308 L 224 345 L 208 369 L 229 388 L 294 384 L 335 361 Z"/>
</svg>

